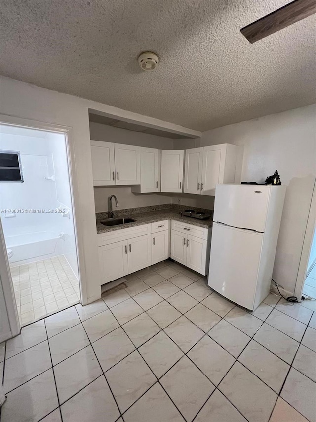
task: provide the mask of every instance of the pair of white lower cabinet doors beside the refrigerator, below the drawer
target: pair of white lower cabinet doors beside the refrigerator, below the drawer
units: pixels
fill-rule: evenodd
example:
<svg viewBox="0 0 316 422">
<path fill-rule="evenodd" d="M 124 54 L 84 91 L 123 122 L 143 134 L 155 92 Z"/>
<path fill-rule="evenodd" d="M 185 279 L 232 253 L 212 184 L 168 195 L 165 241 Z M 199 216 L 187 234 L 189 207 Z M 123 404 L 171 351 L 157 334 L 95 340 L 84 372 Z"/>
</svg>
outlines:
<svg viewBox="0 0 316 422">
<path fill-rule="evenodd" d="M 171 230 L 170 257 L 203 276 L 208 272 L 209 251 L 209 240 Z"/>
</svg>

